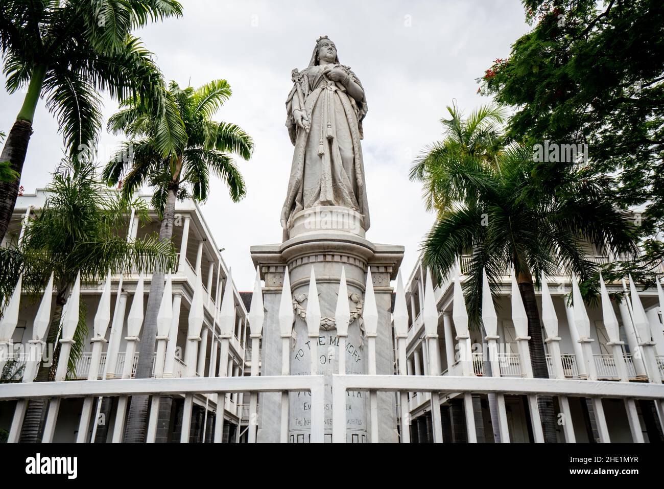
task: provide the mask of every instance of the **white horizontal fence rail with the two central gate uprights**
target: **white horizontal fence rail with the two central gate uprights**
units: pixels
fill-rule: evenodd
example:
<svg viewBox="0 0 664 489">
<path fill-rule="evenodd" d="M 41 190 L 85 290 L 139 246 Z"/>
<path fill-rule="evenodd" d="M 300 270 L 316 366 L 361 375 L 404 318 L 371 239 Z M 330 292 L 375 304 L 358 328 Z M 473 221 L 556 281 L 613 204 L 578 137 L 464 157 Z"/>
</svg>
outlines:
<svg viewBox="0 0 664 489">
<path fill-rule="evenodd" d="M 328 377 L 330 378 L 330 377 Z M 325 385 L 323 375 L 254 377 L 197 377 L 162 379 L 109 379 L 41 383 L 9 383 L 0 388 L 0 401 L 13 399 L 72 397 L 116 397 L 205 393 L 311 393 L 311 440 L 323 442 L 325 431 Z M 664 399 L 664 385 L 652 383 L 533 379 L 451 375 L 332 375 L 332 439 L 346 439 L 347 391 L 430 393 L 438 399 L 446 393 L 496 393 L 502 395 L 552 395 L 558 397 L 613 397 L 619 399 Z M 286 405 L 288 415 L 288 405 Z M 242 405 L 242 417 L 250 413 Z M 407 425 L 407 422 L 406 422 Z M 404 427 L 402 427 L 404 429 Z"/>
</svg>

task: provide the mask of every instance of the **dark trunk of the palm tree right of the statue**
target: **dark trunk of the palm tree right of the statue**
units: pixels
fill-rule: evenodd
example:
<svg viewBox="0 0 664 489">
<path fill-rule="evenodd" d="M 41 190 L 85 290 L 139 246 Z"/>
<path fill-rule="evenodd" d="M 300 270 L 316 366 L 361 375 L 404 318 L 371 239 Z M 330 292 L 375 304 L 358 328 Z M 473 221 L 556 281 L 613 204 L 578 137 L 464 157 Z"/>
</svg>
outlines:
<svg viewBox="0 0 664 489">
<path fill-rule="evenodd" d="M 523 307 L 528 317 L 528 336 L 531 337 L 528 342 L 528 349 L 533 365 L 533 376 L 536 379 L 548 379 L 546 354 L 544 353 L 544 341 L 542 340 L 542 323 L 539 317 L 539 310 L 537 309 L 535 286 L 533 286 L 531 272 L 520 273 L 517 276 L 517 282 L 519 283 L 519 292 L 521 292 Z M 544 441 L 547 443 L 556 443 L 556 415 L 553 409 L 553 397 L 550 395 L 539 395 L 537 396 L 537 405 L 539 406 L 540 418 L 542 419 Z"/>
</svg>

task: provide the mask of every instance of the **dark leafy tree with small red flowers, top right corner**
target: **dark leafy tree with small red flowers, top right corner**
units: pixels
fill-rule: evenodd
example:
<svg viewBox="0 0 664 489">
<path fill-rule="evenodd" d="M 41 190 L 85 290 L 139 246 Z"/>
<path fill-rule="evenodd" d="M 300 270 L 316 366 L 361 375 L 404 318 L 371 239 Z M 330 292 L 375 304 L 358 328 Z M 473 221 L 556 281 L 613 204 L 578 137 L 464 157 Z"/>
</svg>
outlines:
<svg viewBox="0 0 664 489">
<path fill-rule="evenodd" d="M 659 0 L 525 0 L 531 32 L 478 78 L 479 92 L 515 108 L 507 137 L 588 144 L 612 197 L 645 208 L 639 234 L 664 229 L 664 9 Z M 551 163 L 560 166 L 564 163 Z M 639 273 L 661 264 L 646 239 Z"/>
</svg>

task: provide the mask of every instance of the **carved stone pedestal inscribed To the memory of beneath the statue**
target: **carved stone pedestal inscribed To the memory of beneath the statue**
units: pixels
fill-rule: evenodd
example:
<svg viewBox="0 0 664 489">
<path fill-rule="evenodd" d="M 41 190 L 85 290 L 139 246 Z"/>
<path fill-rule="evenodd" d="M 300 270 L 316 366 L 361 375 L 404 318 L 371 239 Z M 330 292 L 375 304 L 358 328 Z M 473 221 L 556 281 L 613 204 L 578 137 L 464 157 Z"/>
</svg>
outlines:
<svg viewBox="0 0 664 489">
<path fill-rule="evenodd" d="M 307 212 L 308 211 L 308 212 Z M 359 219 L 359 221 L 358 221 Z M 356 225 L 359 225 L 357 227 Z M 279 308 L 284 283 L 284 270 L 288 266 L 293 300 L 306 310 L 311 268 L 316 276 L 321 307 L 321 332 L 317 353 L 320 365 L 317 373 L 330 375 L 338 373 L 338 355 L 345 354 L 348 373 L 367 373 L 365 363 L 366 338 L 359 323 L 349 327 L 348 345 L 345 352 L 338 351 L 334 324 L 337 294 L 341 269 L 345 269 L 351 298 L 351 311 L 362 303 L 354 300 L 362 298 L 365 290 L 367 268 L 371 266 L 376 306 L 378 307 L 378 337 L 376 338 L 376 372 L 391 375 L 394 373 L 394 353 L 390 305 L 392 288 L 390 280 L 396 278 L 398 267 L 404 254 L 403 246 L 378 245 L 365 238 L 361 227 L 361 216 L 355 211 L 341 207 L 318 207 L 307 209 L 295 216 L 290 239 L 274 245 L 252 246 L 250 248 L 254 266 L 260 268 L 265 280 L 264 307 L 266 320 L 263 328 L 261 375 L 281 375 L 282 339 L 279 327 Z M 291 375 L 309 374 L 309 347 L 305 320 L 295 315 L 295 339 L 290 352 Z M 326 389 L 326 396 L 329 395 Z M 349 393 L 347 399 L 348 440 L 368 441 L 369 417 L 366 396 Z M 363 393 L 365 394 L 365 393 Z M 355 397 L 354 397 L 355 396 Z M 307 441 L 307 402 L 310 397 L 291 393 L 289 433 L 293 442 Z M 331 398 L 325 400 L 331 406 Z M 397 442 L 396 406 L 394 395 L 378 393 L 378 437 L 380 442 Z M 332 411 L 325 411 L 325 435 L 331 435 Z M 278 442 L 280 437 L 281 403 L 279 393 L 266 393 L 261 396 L 258 439 L 262 442 Z M 329 422 L 327 421 L 329 419 Z M 298 436 L 300 435 L 300 436 Z M 363 436 L 364 435 L 364 436 Z M 331 436 L 325 436 L 331 440 Z"/>
</svg>

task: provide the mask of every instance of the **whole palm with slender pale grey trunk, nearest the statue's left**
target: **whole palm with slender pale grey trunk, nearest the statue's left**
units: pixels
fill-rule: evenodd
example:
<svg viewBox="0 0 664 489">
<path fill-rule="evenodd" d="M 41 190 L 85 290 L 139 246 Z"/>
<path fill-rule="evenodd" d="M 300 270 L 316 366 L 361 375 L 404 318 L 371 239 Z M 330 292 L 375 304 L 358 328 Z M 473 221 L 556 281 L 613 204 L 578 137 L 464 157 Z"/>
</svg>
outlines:
<svg viewBox="0 0 664 489">
<path fill-rule="evenodd" d="M 224 180 L 234 202 L 246 193 L 244 179 L 228 153 L 249 159 L 254 149 L 252 139 L 234 124 L 212 121 L 230 95 L 226 80 L 214 80 L 196 89 L 180 88 L 171 82 L 166 110 L 159 117 L 146 112 L 140 100 L 129 99 L 108 121 L 109 130 L 124 131 L 130 140 L 122 144 L 118 155 L 106 165 L 104 177 L 113 184 L 122 181 L 125 195 L 145 183 L 155 188 L 152 205 L 162 216 L 159 239 L 163 241 L 170 242 L 173 236 L 176 199 L 191 193 L 195 201 L 205 201 L 210 172 Z M 166 146 L 171 150 L 165 155 L 159 147 Z M 127 154 L 133 157 L 123 157 Z M 163 286 L 163 269 L 157 269 L 147 299 L 137 378 L 151 375 Z M 147 396 L 131 399 L 125 441 L 145 439 L 147 407 Z"/>
</svg>

